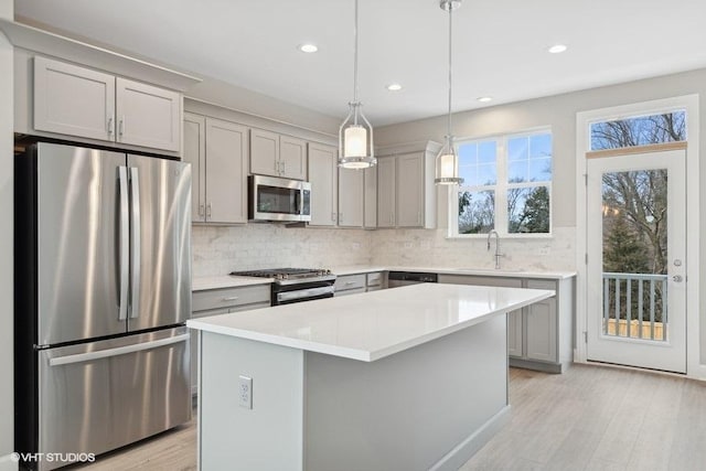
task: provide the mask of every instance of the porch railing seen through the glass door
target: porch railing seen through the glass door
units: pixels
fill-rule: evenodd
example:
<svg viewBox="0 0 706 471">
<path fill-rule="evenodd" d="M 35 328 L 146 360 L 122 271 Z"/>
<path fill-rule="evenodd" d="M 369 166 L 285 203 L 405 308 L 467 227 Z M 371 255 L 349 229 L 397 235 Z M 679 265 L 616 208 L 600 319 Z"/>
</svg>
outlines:
<svg viewBox="0 0 706 471">
<path fill-rule="evenodd" d="M 603 335 L 666 341 L 667 276 L 603 272 Z"/>
</svg>

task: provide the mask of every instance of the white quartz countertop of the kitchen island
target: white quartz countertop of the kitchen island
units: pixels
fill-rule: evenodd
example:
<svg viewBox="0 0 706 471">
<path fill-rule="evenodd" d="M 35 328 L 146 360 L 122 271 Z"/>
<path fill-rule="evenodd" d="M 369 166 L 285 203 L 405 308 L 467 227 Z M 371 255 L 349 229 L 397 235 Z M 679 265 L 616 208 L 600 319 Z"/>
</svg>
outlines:
<svg viewBox="0 0 706 471">
<path fill-rule="evenodd" d="M 536 301 L 552 290 L 424 283 L 186 321 L 186 325 L 373 362 Z"/>
</svg>

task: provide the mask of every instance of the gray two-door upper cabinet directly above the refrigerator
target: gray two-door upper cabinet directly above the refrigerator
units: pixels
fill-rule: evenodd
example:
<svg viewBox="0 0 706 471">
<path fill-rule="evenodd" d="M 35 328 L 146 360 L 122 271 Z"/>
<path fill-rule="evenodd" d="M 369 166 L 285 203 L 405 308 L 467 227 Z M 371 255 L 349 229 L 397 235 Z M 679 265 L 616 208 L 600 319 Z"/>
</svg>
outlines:
<svg viewBox="0 0 706 471">
<path fill-rule="evenodd" d="M 181 149 L 181 94 L 34 57 L 33 128 L 150 149 Z"/>
</svg>

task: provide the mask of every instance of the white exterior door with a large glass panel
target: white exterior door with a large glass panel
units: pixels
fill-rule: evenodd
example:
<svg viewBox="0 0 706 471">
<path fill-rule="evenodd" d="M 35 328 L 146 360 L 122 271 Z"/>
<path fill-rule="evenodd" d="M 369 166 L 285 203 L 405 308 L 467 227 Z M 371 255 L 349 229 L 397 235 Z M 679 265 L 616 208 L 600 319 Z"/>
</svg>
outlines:
<svg viewBox="0 0 706 471">
<path fill-rule="evenodd" d="M 685 151 L 588 161 L 588 360 L 684 373 Z"/>
</svg>

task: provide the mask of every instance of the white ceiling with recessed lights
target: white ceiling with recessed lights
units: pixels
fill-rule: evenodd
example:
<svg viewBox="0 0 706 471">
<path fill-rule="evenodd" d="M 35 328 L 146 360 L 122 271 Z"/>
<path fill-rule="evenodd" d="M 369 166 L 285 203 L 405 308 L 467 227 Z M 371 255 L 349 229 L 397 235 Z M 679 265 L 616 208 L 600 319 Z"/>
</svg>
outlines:
<svg viewBox="0 0 706 471">
<path fill-rule="evenodd" d="M 352 98 L 353 0 L 14 3 L 19 20 L 329 116 L 343 118 Z M 704 67 L 705 18 L 702 0 L 466 0 L 453 15 L 453 109 Z M 319 52 L 299 52 L 303 42 Z M 548 54 L 555 43 L 569 50 Z M 373 126 L 446 113 L 447 47 L 438 0 L 360 0 L 360 98 Z M 388 92 L 393 82 L 404 89 Z"/>
</svg>

